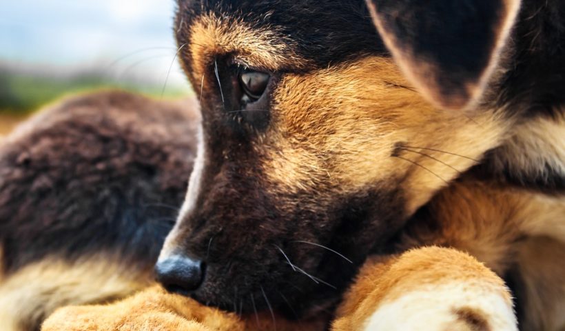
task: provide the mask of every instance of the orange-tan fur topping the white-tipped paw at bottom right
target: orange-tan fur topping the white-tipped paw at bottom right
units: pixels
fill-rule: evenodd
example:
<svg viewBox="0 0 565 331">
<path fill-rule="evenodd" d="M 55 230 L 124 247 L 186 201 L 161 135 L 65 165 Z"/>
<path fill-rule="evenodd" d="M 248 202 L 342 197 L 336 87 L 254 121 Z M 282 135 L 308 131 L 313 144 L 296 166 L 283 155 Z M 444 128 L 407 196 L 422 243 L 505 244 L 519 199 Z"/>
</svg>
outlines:
<svg viewBox="0 0 565 331">
<path fill-rule="evenodd" d="M 420 248 L 362 268 L 338 310 L 332 330 L 364 330 L 367 320 L 381 305 L 406 297 L 415 290 L 449 283 L 463 284 L 478 297 L 497 293 L 506 305 L 512 305 L 504 282 L 473 257 L 448 248 Z M 453 307 L 454 314 L 460 309 L 471 309 L 466 304 L 469 303 L 462 302 L 461 307 Z M 491 319 L 486 312 L 475 310 L 475 314 L 484 321 Z"/>
</svg>

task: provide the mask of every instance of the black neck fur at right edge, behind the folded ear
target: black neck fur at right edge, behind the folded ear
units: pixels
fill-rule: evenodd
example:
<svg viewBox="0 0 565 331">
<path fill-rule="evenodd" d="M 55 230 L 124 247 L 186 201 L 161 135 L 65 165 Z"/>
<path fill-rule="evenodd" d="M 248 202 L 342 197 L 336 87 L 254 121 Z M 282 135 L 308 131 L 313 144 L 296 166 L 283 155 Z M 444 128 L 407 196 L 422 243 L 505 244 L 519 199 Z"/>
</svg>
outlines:
<svg viewBox="0 0 565 331">
<path fill-rule="evenodd" d="M 509 48 L 497 106 L 523 117 L 562 112 L 556 106 L 565 104 L 565 1 L 522 1 Z"/>
</svg>

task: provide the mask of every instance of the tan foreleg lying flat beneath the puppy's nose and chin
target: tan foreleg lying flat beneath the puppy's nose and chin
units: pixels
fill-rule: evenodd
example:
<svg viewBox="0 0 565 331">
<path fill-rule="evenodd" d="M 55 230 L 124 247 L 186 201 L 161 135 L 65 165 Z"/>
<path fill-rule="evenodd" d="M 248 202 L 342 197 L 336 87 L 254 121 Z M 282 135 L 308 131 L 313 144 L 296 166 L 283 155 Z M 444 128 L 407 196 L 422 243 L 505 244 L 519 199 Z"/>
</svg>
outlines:
<svg viewBox="0 0 565 331">
<path fill-rule="evenodd" d="M 274 328 L 322 330 L 322 324 L 320 321 L 289 322 L 278 317 L 275 327 L 269 314 L 240 318 L 154 286 L 112 305 L 62 308 L 45 321 L 41 330 L 259 331 Z"/>
</svg>

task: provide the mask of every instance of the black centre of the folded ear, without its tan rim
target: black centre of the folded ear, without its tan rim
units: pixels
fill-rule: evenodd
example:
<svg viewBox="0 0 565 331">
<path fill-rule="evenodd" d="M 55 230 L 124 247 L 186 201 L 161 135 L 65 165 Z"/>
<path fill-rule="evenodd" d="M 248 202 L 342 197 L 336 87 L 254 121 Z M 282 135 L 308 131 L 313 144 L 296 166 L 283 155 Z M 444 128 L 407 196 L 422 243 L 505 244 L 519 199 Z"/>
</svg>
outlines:
<svg viewBox="0 0 565 331">
<path fill-rule="evenodd" d="M 398 46 L 437 66 L 433 85 L 440 94 L 471 97 L 466 85 L 478 83 L 491 62 L 495 31 L 504 17 L 501 1 L 369 0 L 378 19 Z M 423 63 L 413 63 L 422 66 Z"/>
</svg>

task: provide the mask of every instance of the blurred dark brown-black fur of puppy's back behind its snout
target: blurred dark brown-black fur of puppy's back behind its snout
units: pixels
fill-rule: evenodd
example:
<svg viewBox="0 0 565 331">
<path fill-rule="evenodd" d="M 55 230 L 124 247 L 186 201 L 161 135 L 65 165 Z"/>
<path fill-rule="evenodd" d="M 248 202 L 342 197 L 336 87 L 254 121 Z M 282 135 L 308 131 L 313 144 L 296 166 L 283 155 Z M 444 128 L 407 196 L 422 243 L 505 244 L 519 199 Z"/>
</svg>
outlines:
<svg viewBox="0 0 565 331">
<path fill-rule="evenodd" d="M 198 117 L 183 106 L 75 97 L 0 144 L 3 269 L 99 252 L 151 268 L 192 171 Z"/>
</svg>

